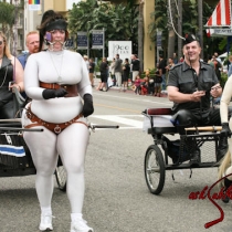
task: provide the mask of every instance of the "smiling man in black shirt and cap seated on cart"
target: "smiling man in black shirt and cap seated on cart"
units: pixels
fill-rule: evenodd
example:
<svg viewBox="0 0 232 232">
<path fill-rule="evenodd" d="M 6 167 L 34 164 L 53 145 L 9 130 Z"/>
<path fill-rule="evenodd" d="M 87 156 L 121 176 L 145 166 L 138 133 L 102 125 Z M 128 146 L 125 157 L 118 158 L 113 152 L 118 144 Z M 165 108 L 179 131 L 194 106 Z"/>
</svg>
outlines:
<svg viewBox="0 0 232 232">
<path fill-rule="evenodd" d="M 191 126 L 221 126 L 219 108 L 211 107 L 211 97 L 221 96 L 222 87 L 212 66 L 200 61 L 201 46 L 193 34 L 183 41 L 184 61 L 169 71 L 168 97 L 173 102 L 172 123 L 180 135 Z M 222 125 L 223 126 L 226 125 Z M 190 165 L 199 165 L 200 150 L 194 139 L 191 141 Z M 217 161 L 228 150 L 228 138 L 221 134 Z"/>
</svg>

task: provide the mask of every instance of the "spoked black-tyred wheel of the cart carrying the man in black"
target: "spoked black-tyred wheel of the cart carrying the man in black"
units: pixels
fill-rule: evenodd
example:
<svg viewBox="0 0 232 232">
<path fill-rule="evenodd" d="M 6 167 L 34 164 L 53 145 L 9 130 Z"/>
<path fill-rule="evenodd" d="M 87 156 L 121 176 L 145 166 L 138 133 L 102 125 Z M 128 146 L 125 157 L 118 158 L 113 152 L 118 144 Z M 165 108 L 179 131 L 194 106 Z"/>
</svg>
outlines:
<svg viewBox="0 0 232 232">
<path fill-rule="evenodd" d="M 145 155 L 145 179 L 152 194 L 159 194 L 165 186 L 165 161 L 158 146 L 151 145 Z"/>
</svg>

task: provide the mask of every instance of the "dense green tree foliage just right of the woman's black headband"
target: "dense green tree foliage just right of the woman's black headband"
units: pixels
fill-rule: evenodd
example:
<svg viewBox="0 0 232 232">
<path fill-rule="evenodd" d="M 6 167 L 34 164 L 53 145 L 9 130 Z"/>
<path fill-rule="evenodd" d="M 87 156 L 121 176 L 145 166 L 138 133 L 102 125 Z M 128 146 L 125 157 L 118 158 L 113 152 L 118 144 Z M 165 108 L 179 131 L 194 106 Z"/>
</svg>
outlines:
<svg viewBox="0 0 232 232">
<path fill-rule="evenodd" d="M 110 4 L 96 0 L 81 1 L 68 11 L 68 30 L 71 34 L 85 31 L 89 36 L 92 30 L 105 30 L 105 48 L 108 41 L 133 41 L 136 50 L 138 36 L 138 10 L 129 1 L 127 4 Z"/>
</svg>

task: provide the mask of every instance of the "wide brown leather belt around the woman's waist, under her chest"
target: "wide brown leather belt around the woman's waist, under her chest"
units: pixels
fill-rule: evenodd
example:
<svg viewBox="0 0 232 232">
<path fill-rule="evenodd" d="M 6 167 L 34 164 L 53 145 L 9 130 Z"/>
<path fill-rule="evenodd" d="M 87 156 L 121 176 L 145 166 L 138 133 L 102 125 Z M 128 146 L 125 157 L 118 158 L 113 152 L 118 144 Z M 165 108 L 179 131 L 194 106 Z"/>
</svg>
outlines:
<svg viewBox="0 0 232 232">
<path fill-rule="evenodd" d="M 50 89 L 57 89 L 63 87 L 67 94 L 64 95 L 64 97 L 75 97 L 78 96 L 77 92 L 77 85 L 59 85 L 57 83 L 45 83 L 45 82 L 40 82 L 40 87 L 43 88 L 50 88 Z"/>
</svg>

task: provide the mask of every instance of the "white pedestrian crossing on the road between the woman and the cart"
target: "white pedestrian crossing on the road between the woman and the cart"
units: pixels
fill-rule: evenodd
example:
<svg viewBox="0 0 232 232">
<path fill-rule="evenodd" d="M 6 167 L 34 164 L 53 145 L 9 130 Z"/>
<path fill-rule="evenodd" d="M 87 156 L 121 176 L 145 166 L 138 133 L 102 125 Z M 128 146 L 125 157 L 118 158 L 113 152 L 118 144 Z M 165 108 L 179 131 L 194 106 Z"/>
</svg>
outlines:
<svg viewBox="0 0 232 232">
<path fill-rule="evenodd" d="M 143 129 L 143 115 L 92 115 L 92 124 L 118 125 L 119 129 Z"/>
</svg>

